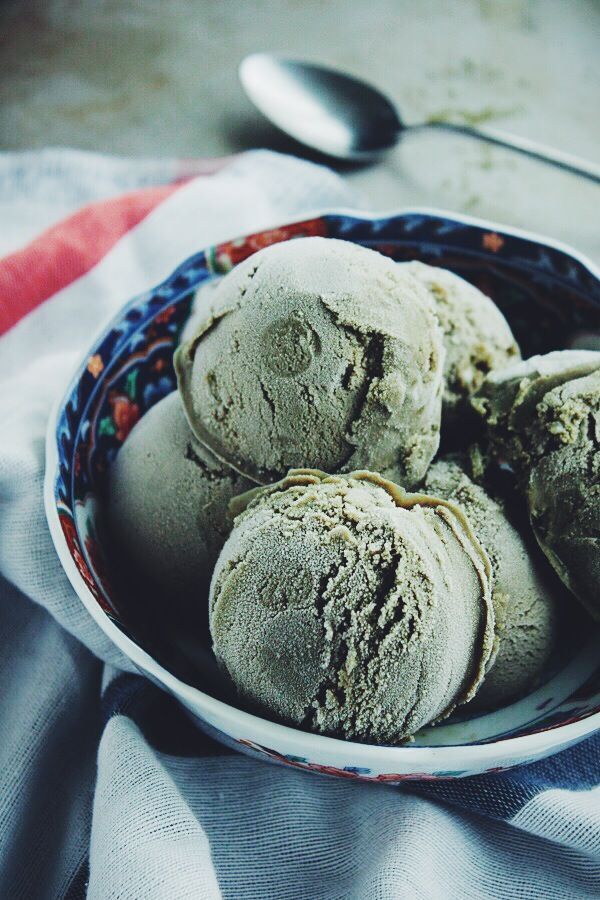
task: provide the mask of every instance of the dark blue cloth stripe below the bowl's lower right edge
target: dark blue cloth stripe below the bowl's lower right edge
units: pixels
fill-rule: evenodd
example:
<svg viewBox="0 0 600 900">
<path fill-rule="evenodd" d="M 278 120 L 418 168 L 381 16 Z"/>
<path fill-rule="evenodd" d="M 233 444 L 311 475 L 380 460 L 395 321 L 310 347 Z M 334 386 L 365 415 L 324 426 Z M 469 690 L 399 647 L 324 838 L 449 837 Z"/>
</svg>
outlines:
<svg viewBox="0 0 600 900">
<path fill-rule="evenodd" d="M 410 790 L 471 812 L 512 819 L 543 791 L 552 788 L 581 791 L 597 785 L 600 785 L 600 733 L 555 756 L 508 772 L 455 781 L 413 782 Z"/>
</svg>

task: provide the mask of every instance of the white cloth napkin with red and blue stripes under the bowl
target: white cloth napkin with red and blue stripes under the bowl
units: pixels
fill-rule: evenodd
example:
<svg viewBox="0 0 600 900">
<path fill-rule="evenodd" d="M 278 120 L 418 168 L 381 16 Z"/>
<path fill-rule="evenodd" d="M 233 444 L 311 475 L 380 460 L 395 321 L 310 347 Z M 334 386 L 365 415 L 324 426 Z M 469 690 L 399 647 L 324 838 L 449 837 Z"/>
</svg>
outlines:
<svg viewBox="0 0 600 900">
<path fill-rule="evenodd" d="M 266 152 L 143 202 L 116 196 L 193 171 L 74 151 L 0 157 L 0 316 L 11 324 L 0 337 L 0 896 L 599 896 L 593 777 L 556 788 L 560 766 L 548 764 L 425 797 L 227 753 L 124 674 L 69 586 L 44 519 L 44 434 L 96 331 L 205 245 L 349 202 L 328 170 Z M 569 771 L 597 773 L 599 759 L 588 743 Z"/>
</svg>

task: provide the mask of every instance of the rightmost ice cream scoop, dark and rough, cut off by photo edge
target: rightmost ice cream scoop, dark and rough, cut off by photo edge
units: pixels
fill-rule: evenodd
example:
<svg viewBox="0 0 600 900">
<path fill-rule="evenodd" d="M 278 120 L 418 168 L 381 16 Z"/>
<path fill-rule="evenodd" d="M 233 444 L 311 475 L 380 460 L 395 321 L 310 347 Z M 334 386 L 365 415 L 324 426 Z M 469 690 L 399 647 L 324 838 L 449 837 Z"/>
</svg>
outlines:
<svg viewBox="0 0 600 900">
<path fill-rule="evenodd" d="M 475 407 L 517 473 L 538 542 L 600 618 L 600 353 L 556 351 L 488 379 Z"/>
</svg>

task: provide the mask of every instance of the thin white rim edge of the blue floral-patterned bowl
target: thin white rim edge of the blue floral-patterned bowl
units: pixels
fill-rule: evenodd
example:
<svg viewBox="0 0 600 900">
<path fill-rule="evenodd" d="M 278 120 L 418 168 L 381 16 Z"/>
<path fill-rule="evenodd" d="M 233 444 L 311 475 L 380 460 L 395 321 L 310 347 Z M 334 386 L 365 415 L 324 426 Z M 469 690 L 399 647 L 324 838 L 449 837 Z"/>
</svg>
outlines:
<svg viewBox="0 0 600 900">
<path fill-rule="evenodd" d="M 510 237 L 521 238 L 530 241 L 531 243 L 562 251 L 580 262 L 596 279 L 598 279 L 598 281 L 600 281 L 600 268 L 586 255 L 562 241 L 546 238 L 524 229 L 512 228 L 490 220 L 447 212 L 434 207 L 402 207 L 397 210 L 388 210 L 384 212 L 364 212 L 363 210 L 350 209 L 347 207 L 317 209 L 308 211 L 306 214 L 295 217 L 290 221 L 270 225 L 268 228 L 283 228 L 313 218 L 326 218 L 328 216 L 347 216 L 363 222 L 388 220 L 403 216 L 427 216 L 432 218 L 443 218 L 456 222 L 457 224 L 473 225 L 477 228 L 483 228 Z M 262 227 L 260 230 L 265 229 Z M 263 719 L 260 716 L 256 716 L 242 709 L 238 709 L 235 706 L 231 706 L 222 700 L 218 700 L 210 694 L 204 693 L 200 688 L 193 687 L 177 678 L 169 672 L 168 669 L 165 669 L 160 665 L 160 663 L 150 656 L 149 653 L 131 640 L 131 638 L 121 631 L 100 607 L 77 569 L 60 525 L 58 507 L 54 493 L 54 485 L 59 465 L 58 423 L 61 412 L 73 387 L 79 381 L 81 373 L 85 369 L 90 353 L 93 352 L 100 340 L 121 320 L 121 316 L 122 309 L 99 329 L 91 343 L 90 349 L 80 357 L 74 372 L 71 373 L 66 381 L 65 388 L 60 392 L 54 403 L 48 419 L 46 431 L 44 506 L 48 527 L 56 552 L 73 589 L 104 634 L 139 671 L 161 684 L 175 697 L 179 698 L 188 708 L 194 710 L 201 709 L 205 711 L 207 715 L 211 716 L 213 721 L 214 719 L 220 720 L 221 725 L 219 727 L 222 729 L 230 729 L 233 734 L 238 732 L 245 734 L 252 733 L 253 740 L 270 747 L 284 743 L 287 747 L 293 748 L 298 743 L 302 743 L 304 745 L 303 753 L 311 752 L 312 758 L 314 759 L 318 759 L 320 755 L 331 756 L 332 754 L 337 753 L 341 756 L 348 756 L 351 754 L 355 761 L 364 762 L 371 767 L 377 765 L 382 769 L 390 766 L 393 767 L 394 764 L 398 765 L 400 759 L 402 759 L 404 765 L 427 764 L 429 766 L 443 766 L 444 768 L 449 768 L 453 764 L 453 757 L 459 757 L 460 764 L 463 767 L 469 765 L 478 766 L 490 761 L 497 761 L 500 758 L 505 760 L 519 760 L 542 754 L 545 751 L 549 752 L 555 746 L 563 747 L 568 743 L 579 741 L 587 735 L 592 734 L 597 729 L 600 729 L 600 711 L 598 711 L 590 713 L 575 722 L 553 725 L 533 734 L 519 735 L 517 737 L 499 737 L 495 740 L 486 741 L 486 743 L 481 744 L 453 744 L 431 747 L 411 747 L 403 745 L 394 747 L 389 745 L 379 746 L 376 744 L 361 744 L 354 741 L 345 741 L 339 738 L 300 731 L 299 729 L 287 725 L 271 722 L 268 719 Z M 323 754 L 320 754 L 320 751 L 323 751 Z M 400 757 L 398 754 L 400 754 Z"/>
</svg>

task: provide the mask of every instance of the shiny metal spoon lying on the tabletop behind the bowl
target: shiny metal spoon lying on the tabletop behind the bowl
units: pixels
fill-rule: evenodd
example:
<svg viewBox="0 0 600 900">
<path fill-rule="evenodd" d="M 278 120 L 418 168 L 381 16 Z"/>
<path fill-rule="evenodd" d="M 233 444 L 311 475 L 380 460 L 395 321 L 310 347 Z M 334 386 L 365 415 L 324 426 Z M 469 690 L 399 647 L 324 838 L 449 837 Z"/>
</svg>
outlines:
<svg viewBox="0 0 600 900">
<path fill-rule="evenodd" d="M 435 128 L 508 147 L 600 183 L 600 165 L 527 138 L 451 122 L 406 125 L 381 91 L 324 66 L 253 53 L 242 61 L 239 76 L 250 100 L 281 131 L 338 159 L 376 159 L 404 132 Z"/>
</svg>

